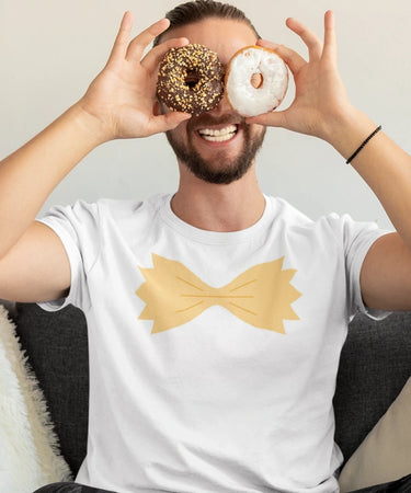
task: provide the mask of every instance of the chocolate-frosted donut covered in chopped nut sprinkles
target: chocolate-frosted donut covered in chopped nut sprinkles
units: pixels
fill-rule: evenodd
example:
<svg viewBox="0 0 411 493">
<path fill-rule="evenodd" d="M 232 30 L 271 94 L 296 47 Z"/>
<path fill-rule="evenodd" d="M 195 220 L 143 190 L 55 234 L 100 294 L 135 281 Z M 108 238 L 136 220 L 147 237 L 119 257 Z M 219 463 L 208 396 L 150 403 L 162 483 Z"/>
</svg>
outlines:
<svg viewBox="0 0 411 493">
<path fill-rule="evenodd" d="M 157 94 L 171 110 L 199 115 L 218 106 L 224 74 L 217 54 L 205 46 L 171 48 L 160 64 Z"/>
</svg>

